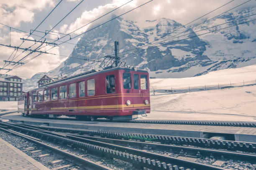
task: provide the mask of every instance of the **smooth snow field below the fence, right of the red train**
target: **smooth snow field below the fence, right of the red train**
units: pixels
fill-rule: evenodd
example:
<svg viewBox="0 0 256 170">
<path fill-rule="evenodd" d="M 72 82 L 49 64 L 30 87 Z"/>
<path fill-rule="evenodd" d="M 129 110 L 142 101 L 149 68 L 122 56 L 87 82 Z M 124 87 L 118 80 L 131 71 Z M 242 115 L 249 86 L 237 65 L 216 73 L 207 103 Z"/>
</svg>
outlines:
<svg viewBox="0 0 256 170">
<path fill-rule="evenodd" d="M 256 122 L 256 85 L 151 96 L 143 119 Z"/>
</svg>

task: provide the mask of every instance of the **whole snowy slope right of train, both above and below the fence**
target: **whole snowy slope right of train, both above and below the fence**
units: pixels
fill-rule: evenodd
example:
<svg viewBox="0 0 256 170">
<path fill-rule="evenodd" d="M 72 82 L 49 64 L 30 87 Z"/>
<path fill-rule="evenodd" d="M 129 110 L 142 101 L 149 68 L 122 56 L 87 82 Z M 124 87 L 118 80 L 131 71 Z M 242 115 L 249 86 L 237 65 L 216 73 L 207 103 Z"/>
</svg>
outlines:
<svg viewBox="0 0 256 170">
<path fill-rule="evenodd" d="M 256 80 L 256 65 L 187 78 L 150 79 L 156 89 L 196 87 Z M 256 122 L 256 85 L 151 96 L 151 113 L 144 119 L 229 120 Z"/>
</svg>

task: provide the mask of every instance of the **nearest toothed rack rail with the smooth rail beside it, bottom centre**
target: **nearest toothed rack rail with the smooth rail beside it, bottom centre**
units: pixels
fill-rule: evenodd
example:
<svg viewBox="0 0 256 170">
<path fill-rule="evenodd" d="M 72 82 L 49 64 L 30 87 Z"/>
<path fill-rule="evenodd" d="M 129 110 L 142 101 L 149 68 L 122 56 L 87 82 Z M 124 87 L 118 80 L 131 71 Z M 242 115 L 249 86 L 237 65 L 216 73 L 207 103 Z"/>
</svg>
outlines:
<svg viewBox="0 0 256 170">
<path fill-rule="evenodd" d="M 0 124 L 4 124 L 4 125 L 7 125 L 8 127 L 19 129 L 25 132 L 37 133 L 38 135 L 43 135 L 44 137 L 55 139 L 58 141 L 64 141 L 65 143 L 71 143 L 79 147 L 84 147 L 87 150 L 91 150 L 92 153 L 99 153 L 100 155 L 104 155 L 106 158 L 117 158 L 120 160 L 125 160 L 127 162 L 133 163 L 133 165 L 137 165 L 138 167 L 145 167 L 153 170 L 158 170 L 158 169 L 172 170 L 170 168 L 176 167 L 178 169 L 178 166 L 181 169 L 184 169 L 184 167 L 186 167 L 186 168 L 196 168 L 196 170 L 205 170 L 205 169 L 224 170 L 223 168 L 215 167 L 212 165 L 206 165 L 206 164 L 191 162 L 187 160 L 181 160 L 181 159 L 172 158 L 165 155 L 159 155 L 156 153 L 148 153 L 148 152 L 136 150 L 133 148 L 122 147 L 119 145 L 103 143 L 95 140 L 87 139 L 87 141 L 90 141 L 90 143 L 94 143 L 94 144 L 88 144 L 88 143 L 80 142 L 77 140 L 63 138 L 57 135 L 47 134 L 44 132 L 38 132 L 36 130 L 30 130 L 30 129 L 18 127 L 15 125 L 10 125 L 8 123 L 0 123 Z M 99 145 L 103 145 L 103 147 Z M 106 147 L 109 147 L 109 148 L 106 148 Z M 114 149 L 111 149 L 111 148 L 114 148 Z M 158 161 L 155 161 L 155 160 L 158 160 Z M 173 166 L 171 164 L 166 165 L 166 163 L 173 163 L 175 165 Z"/>
</svg>

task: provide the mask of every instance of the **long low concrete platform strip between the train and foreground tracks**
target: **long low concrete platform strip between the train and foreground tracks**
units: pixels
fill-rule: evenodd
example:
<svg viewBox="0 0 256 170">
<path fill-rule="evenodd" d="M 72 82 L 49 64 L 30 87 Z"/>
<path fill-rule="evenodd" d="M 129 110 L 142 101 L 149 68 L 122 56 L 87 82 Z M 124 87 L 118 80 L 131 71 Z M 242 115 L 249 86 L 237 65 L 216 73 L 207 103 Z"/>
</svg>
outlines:
<svg viewBox="0 0 256 170">
<path fill-rule="evenodd" d="M 124 123 L 104 121 L 78 121 L 62 119 L 40 119 L 23 117 L 19 113 L 1 116 L 13 122 L 22 122 L 32 125 L 44 125 L 61 128 L 79 128 L 85 130 L 100 130 L 119 133 L 143 133 L 152 135 L 170 135 L 192 138 L 209 138 L 214 135 L 225 135 L 229 140 L 256 142 L 256 128 L 212 125 L 175 125 L 175 124 L 150 124 L 150 123 Z M 240 121 L 241 122 L 241 121 Z M 248 122 L 248 121 L 247 121 Z M 254 123 L 254 122 L 253 122 Z"/>
</svg>

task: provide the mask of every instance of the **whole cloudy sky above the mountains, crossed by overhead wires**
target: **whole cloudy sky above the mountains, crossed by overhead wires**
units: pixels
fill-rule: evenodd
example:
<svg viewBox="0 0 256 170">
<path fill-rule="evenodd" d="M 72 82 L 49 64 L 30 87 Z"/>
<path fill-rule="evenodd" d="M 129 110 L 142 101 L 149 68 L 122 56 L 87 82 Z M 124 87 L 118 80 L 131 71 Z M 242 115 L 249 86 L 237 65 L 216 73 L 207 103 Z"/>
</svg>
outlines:
<svg viewBox="0 0 256 170">
<path fill-rule="evenodd" d="M 46 44 L 41 45 L 41 43 L 35 44 L 35 42 L 31 41 L 22 43 L 20 38 L 26 38 L 29 36 L 28 32 L 33 32 L 33 35 L 29 36 L 29 39 L 44 41 L 44 38 L 46 38 L 47 42 L 53 42 L 63 37 L 63 34 L 72 32 L 70 36 L 60 39 L 61 41 L 66 41 L 69 40 L 70 37 L 75 37 L 85 32 L 92 24 L 99 25 L 104 23 L 113 15 L 121 15 L 148 1 L 150 0 L 0 0 L 0 68 L 13 69 L 7 74 L 24 76 L 24 79 L 31 77 L 37 72 L 52 70 L 70 55 L 74 48 L 73 44 L 77 43 L 79 37 L 68 41 L 69 44 L 63 43 L 56 47 L 53 45 L 46 46 Z M 231 0 L 153 0 L 123 15 L 122 18 L 137 21 L 138 25 L 141 27 L 145 26 L 145 20 L 154 20 L 163 17 L 176 20 L 185 25 L 230 1 Z M 225 7 L 205 16 L 205 18 L 222 13 L 246 1 L 248 0 L 233 0 Z M 58 3 L 59 5 L 56 7 Z M 127 4 L 124 5 L 125 3 Z M 255 6 L 255 3 L 255 0 L 251 0 L 242 7 Z M 120 7 L 121 5 L 124 6 Z M 54 9 L 54 7 L 56 8 Z M 74 7 L 76 8 L 67 15 Z M 118 8 L 118 10 L 114 10 L 116 8 Z M 52 10 L 53 12 L 46 18 Z M 88 24 L 112 10 L 114 10 L 112 13 L 100 18 L 92 24 Z M 64 18 L 66 15 L 67 17 Z M 46 18 L 46 20 L 44 20 L 44 18 Z M 63 18 L 64 20 L 62 20 Z M 41 23 L 43 20 L 44 22 Z M 61 22 L 59 23 L 59 21 Z M 41 25 L 38 27 L 40 23 Z M 59 24 L 57 25 L 57 23 Z M 12 27 L 11 30 L 10 27 Z M 78 28 L 81 29 L 77 30 Z M 45 35 L 45 32 L 49 32 L 49 30 L 52 32 Z M 74 30 L 77 31 L 73 32 Z M 58 34 L 57 32 L 63 34 Z M 60 44 L 61 42 L 56 41 L 55 43 Z M 51 54 L 38 55 L 39 52 L 33 52 L 28 55 L 28 51 L 17 51 L 14 48 L 3 45 L 20 46 L 21 48 L 30 47 L 32 50 L 41 45 L 38 48 L 39 51 L 47 50 L 47 52 Z M 15 65 L 5 64 L 3 60 L 15 62 L 20 60 L 20 62 L 25 62 L 26 64 L 20 67 L 16 65 L 15 68 Z M 6 74 L 6 71 L 7 70 L 0 70 L 0 73 Z"/>
</svg>

